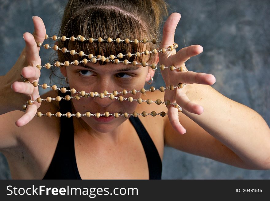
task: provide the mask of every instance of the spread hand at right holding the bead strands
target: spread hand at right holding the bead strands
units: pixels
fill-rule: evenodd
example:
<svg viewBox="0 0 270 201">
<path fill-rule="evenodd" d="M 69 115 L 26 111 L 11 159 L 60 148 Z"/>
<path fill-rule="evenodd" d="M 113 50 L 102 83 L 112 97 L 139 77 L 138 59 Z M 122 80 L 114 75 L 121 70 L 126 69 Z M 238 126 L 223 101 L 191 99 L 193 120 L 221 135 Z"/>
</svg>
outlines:
<svg viewBox="0 0 270 201">
<path fill-rule="evenodd" d="M 174 44 L 174 34 L 176 30 L 176 26 L 181 18 L 179 13 L 172 13 L 167 21 L 164 24 L 163 28 L 163 37 L 160 44 L 161 48 L 168 48 L 172 44 Z M 185 66 L 185 62 L 190 59 L 192 56 L 199 55 L 203 52 L 203 47 L 200 45 L 191 45 L 189 47 L 184 47 L 180 49 L 178 52 L 176 50 L 166 51 L 165 53 L 159 53 L 159 63 L 164 64 L 165 66 L 174 65 L 176 67 Z M 161 70 L 162 77 L 166 84 L 166 87 L 169 85 L 177 86 L 178 83 L 186 83 L 186 84 L 205 84 L 205 85 L 213 85 L 216 82 L 214 75 L 206 74 L 206 73 L 195 73 L 192 71 L 183 71 L 179 72 L 179 70 L 171 71 L 170 69 Z M 183 110 L 186 110 L 195 114 L 202 114 L 203 107 L 193 103 L 187 97 L 188 88 L 192 87 L 191 85 L 186 85 L 182 89 L 176 88 L 174 90 L 166 90 L 164 95 L 164 101 L 170 100 L 173 103 L 177 103 L 182 107 Z M 179 122 L 179 114 L 178 109 L 173 105 L 168 105 L 168 118 L 172 127 L 178 131 L 180 134 L 186 133 L 186 129 Z"/>
</svg>

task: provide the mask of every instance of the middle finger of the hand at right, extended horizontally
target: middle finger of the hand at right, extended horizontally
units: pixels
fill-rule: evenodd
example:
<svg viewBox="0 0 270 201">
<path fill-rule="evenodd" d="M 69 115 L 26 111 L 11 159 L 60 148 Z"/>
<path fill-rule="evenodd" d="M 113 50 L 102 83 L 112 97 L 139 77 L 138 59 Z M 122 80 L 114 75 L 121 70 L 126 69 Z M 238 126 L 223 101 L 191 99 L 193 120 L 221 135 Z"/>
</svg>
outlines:
<svg viewBox="0 0 270 201">
<path fill-rule="evenodd" d="M 216 78 L 212 74 L 196 73 L 193 71 L 178 72 L 181 74 L 181 82 L 186 84 L 203 84 L 213 85 L 216 82 Z M 180 76 L 180 75 L 179 75 Z"/>
</svg>

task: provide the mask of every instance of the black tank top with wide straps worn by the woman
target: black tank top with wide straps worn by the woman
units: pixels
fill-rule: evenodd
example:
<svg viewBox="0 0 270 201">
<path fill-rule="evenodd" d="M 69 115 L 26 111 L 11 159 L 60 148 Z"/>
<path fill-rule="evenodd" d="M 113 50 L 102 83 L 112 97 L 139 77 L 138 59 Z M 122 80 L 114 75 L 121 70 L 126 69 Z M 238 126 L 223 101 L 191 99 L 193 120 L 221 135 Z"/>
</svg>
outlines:
<svg viewBox="0 0 270 201">
<path fill-rule="evenodd" d="M 59 96 L 70 95 L 59 92 Z M 61 100 L 59 112 L 65 114 L 71 111 L 71 101 Z M 156 146 L 138 117 L 129 117 L 141 140 L 149 168 L 149 179 L 161 179 L 162 162 Z M 43 179 L 81 179 L 76 163 L 74 148 L 73 120 L 62 116 L 61 132 L 54 156 Z"/>
</svg>

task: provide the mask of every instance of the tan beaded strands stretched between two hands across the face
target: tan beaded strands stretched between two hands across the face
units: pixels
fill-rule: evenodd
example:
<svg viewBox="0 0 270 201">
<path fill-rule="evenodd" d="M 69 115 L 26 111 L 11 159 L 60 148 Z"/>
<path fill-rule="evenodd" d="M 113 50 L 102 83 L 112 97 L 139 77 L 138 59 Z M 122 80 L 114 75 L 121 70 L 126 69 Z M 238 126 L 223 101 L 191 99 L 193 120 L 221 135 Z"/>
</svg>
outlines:
<svg viewBox="0 0 270 201">
<path fill-rule="evenodd" d="M 50 37 L 50 36 L 48 36 L 46 34 L 45 40 L 49 39 L 49 38 L 53 39 L 53 40 L 61 39 L 62 41 L 71 40 L 72 42 L 78 41 L 78 42 L 89 42 L 89 43 L 94 43 L 94 42 L 98 42 L 98 43 L 102 43 L 102 42 L 105 42 L 105 43 L 126 43 L 126 44 L 128 44 L 128 43 L 134 43 L 134 44 L 138 44 L 138 43 L 143 43 L 143 44 L 146 44 L 146 43 L 153 43 L 153 44 L 160 43 L 160 41 L 157 41 L 156 39 L 147 40 L 145 38 L 143 40 L 137 40 L 137 39 L 130 40 L 128 38 L 126 38 L 125 40 L 121 40 L 120 38 L 116 38 L 114 40 L 114 39 L 111 39 L 110 37 L 107 38 L 107 39 L 102 39 L 101 37 L 99 37 L 98 39 L 94 39 L 94 38 L 87 39 L 87 38 L 85 38 L 84 36 L 81 36 L 81 35 L 78 35 L 77 37 L 74 37 L 74 36 L 71 36 L 71 37 L 66 37 L 66 36 L 57 37 L 55 35 Z M 44 68 L 44 67 L 49 69 L 49 68 L 51 68 L 51 66 L 56 66 L 56 67 L 69 66 L 69 65 L 77 66 L 77 65 L 79 65 L 79 63 L 83 63 L 83 64 L 87 64 L 88 62 L 97 63 L 100 60 L 101 62 L 106 62 L 106 63 L 112 62 L 114 64 L 123 63 L 124 65 L 133 65 L 133 66 L 140 65 L 142 67 L 148 67 L 149 66 L 153 70 L 156 70 L 157 68 L 160 68 L 160 70 L 188 71 L 183 66 L 176 67 L 174 65 L 165 66 L 164 64 L 161 64 L 161 65 L 156 65 L 155 63 L 149 64 L 149 63 L 147 63 L 145 61 L 142 61 L 141 63 L 139 63 L 137 61 L 133 61 L 133 62 L 128 61 L 128 58 L 130 58 L 132 56 L 136 56 L 138 58 L 141 55 L 157 54 L 159 52 L 165 53 L 166 51 L 172 51 L 173 49 L 178 47 L 178 45 L 176 43 L 172 44 L 167 49 L 166 48 L 162 48 L 160 50 L 153 49 L 153 50 L 145 50 L 143 52 L 135 52 L 135 53 L 128 52 L 127 54 L 122 54 L 120 52 L 120 53 L 118 53 L 118 55 L 110 55 L 109 57 L 105 57 L 105 56 L 101 56 L 101 55 L 94 56 L 92 53 L 86 54 L 83 51 L 76 52 L 75 50 L 67 50 L 66 47 L 60 48 L 57 45 L 54 45 L 53 47 L 51 47 L 51 46 L 49 46 L 49 44 L 41 44 L 41 42 L 37 42 L 37 46 L 38 47 L 42 46 L 45 49 L 52 48 L 55 51 L 62 51 L 63 53 L 67 53 L 67 54 L 69 53 L 71 55 L 79 55 L 80 57 L 87 57 L 88 58 L 88 59 L 84 58 L 81 61 L 78 61 L 78 60 L 65 61 L 64 63 L 60 63 L 59 61 L 56 61 L 54 64 L 46 63 L 45 65 L 42 65 L 42 66 L 37 65 L 36 67 L 39 68 L 40 70 L 42 68 Z M 126 59 L 120 61 L 118 58 L 119 59 L 126 58 Z M 29 80 L 27 80 L 23 76 L 21 76 L 21 79 L 23 80 L 23 82 L 29 82 Z M 148 82 L 149 84 L 152 83 L 153 78 L 151 77 L 150 80 L 151 81 Z M 67 82 L 67 80 L 66 80 L 66 82 Z M 31 83 L 31 82 L 29 82 L 29 83 Z M 117 99 L 120 102 L 128 101 L 128 102 L 131 103 L 133 101 L 137 101 L 138 104 L 143 104 L 143 102 L 146 102 L 147 104 L 155 103 L 157 105 L 160 105 L 160 104 L 166 104 L 166 106 L 173 105 L 175 108 L 178 108 L 178 112 L 181 112 L 182 108 L 176 102 L 172 103 L 170 100 L 166 100 L 165 102 L 163 102 L 160 99 L 157 99 L 157 100 L 151 100 L 151 99 L 143 100 L 142 98 L 137 98 L 136 99 L 136 98 L 133 98 L 132 96 L 129 96 L 128 98 L 124 98 L 123 96 L 121 96 L 121 95 L 118 96 L 118 95 L 119 94 L 127 95 L 128 93 L 131 93 L 132 95 L 135 95 L 136 93 L 144 94 L 147 91 L 154 92 L 156 90 L 160 90 L 161 92 L 164 92 L 165 90 L 174 90 L 176 88 L 183 88 L 186 85 L 186 84 L 183 84 L 183 83 L 179 83 L 178 86 L 174 86 L 174 85 L 169 85 L 167 87 L 161 86 L 160 88 L 157 88 L 157 89 L 155 87 L 151 86 L 150 89 L 142 88 L 140 90 L 133 89 L 131 91 L 127 91 L 126 89 L 122 89 L 121 92 L 118 92 L 118 91 L 114 90 L 111 93 L 109 93 L 107 90 L 104 90 L 103 93 L 97 93 L 97 92 L 93 92 L 93 91 L 92 92 L 86 92 L 85 90 L 77 91 L 74 88 L 72 88 L 70 90 L 66 89 L 65 87 L 58 88 L 56 85 L 48 86 L 46 83 L 39 84 L 38 82 L 33 82 L 31 84 L 33 84 L 34 87 L 40 86 L 43 89 L 50 88 L 50 89 L 52 89 L 54 91 L 60 90 L 61 93 L 70 92 L 71 95 L 66 95 L 65 97 L 60 97 L 60 96 L 47 97 L 45 99 L 42 99 L 41 97 L 38 97 L 36 100 L 28 100 L 27 103 L 25 103 L 25 105 L 23 105 L 24 110 L 27 108 L 27 105 L 32 105 L 34 101 L 37 101 L 38 103 L 41 103 L 42 101 L 46 101 L 46 102 L 58 101 L 59 102 L 59 101 L 64 100 L 64 99 L 65 100 L 71 100 L 71 99 L 79 100 L 80 98 L 89 98 L 89 97 L 91 97 L 91 98 L 99 97 L 100 99 L 103 99 L 104 97 L 106 97 L 106 98 L 109 98 L 110 100 Z M 157 113 L 156 111 L 152 111 L 151 113 L 147 113 L 145 111 L 143 111 L 141 113 L 138 113 L 138 112 L 135 112 L 135 111 L 133 113 L 128 113 L 128 112 L 122 112 L 122 113 L 118 113 L 118 112 L 115 112 L 115 113 L 110 113 L 110 112 L 99 113 L 99 112 L 96 112 L 95 114 L 87 111 L 85 113 L 76 112 L 75 114 L 71 114 L 71 112 L 67 112 L 65 114 L 61 114 L 60 112 L 56 112 L 55 114 L 53 114 L 51 112 L 46 112 L 46 114 L 42 114 L 41 112 L 37 112 L 36 115 L 38 117 L 42 117 L 42 116 L 47 116 L 47 117 L 66 116 L 68 118 L 70 118 L 71 116 L 76 116 L 77 118 L 82 117 L 82 116 L 86 116 L 86 117 L 95 116 L 96 118 L 99 118 L 100 116 L 105 116 L 105 117 L 114 116 L 115 118 L 118 118 L 119 116 L 124 116 L 125 118 L 128 118 L 130 115 L 132 115 L 133 117 L 137 117 L 138 115 L 141 115 L 141 116 L 160 115 L 160 116 L 164 117 L 166 114 L 167 113 L 164 112 L 164 111 L 159 112 L 159 113 Z"/>
</svg>

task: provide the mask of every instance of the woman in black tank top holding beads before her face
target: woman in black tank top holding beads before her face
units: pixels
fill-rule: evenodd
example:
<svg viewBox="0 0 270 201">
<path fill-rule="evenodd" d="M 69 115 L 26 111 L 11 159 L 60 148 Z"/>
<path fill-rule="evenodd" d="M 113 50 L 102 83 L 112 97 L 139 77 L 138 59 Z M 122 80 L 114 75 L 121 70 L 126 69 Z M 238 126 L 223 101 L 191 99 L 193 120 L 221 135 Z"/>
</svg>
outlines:
<svg viewBox="0 0 270 201">
<path fill-rule="evenodd" d="M 60 36 L 70 37 L 81 34 L 86 38 L 126 38 L 127 36 L 130 39 L 157 38 L 158 35 L 155 34 L 158 32 L 160 23 L 158 19 L 162 17 L 163 13 L 160 10 L 164 10 L 164 2 L 138 1 L 134 4 L 133 2 L 97 1 L 87 5 L 87 3 L 70 1 L 64 12 Z M 159 49 L 174 44 L 174 31 L 179 20 L 178 13 L 168 17 Z M 19 111 L 21 105 L 29 99 L 29 95 L 31 100 L 39 97 L 37 87 L 18 82 L 17 79 L 22 74 L 30 82 L 34 82 L 38 81 L 40 76 L 40 71 L 34 67 L 41 64 L 36 42 L 43 42 L 46 32 L 39 17 L 33 17 L 33 22 L 35 25 L 33 36 L 29 33 L 24 34 L 25 51 L 10 72 L 1 77 L 3 84 L 8 80 L 7 84 L 1 85 L 5 86 L 3 89 L 8 92 L 8 95 L 1 97 L 0 118 L 5 132 L 0 137 L 0 148 L 9 161 L 12 178 L 157 179 L 161 174 L 160 158 L 163 156 L 164 144 L 241 168 L 269 169 L 269 128 L 264 119 L 257 112 L 222 96 L 211 88 L 209 85 L 214 84 L 215 78 L 210 74 L 165 69 L 162 71 L 162 76 L 166 86 L 177 86 L 178 83 L 189 85 L 173 91 L 166 90 L 165 95 L 158 90 L 132 95 L 134 99 L 141 97 L 143 100 L 157 100 L 164 96 L 162 101 L 177 102 L 183 108 L 182 113 L 178 113 L 177 108 L 172 105 L 168 105 L 167 108 L 165 104 L 137 104 L 135 101 L 119 102 L 115 99 L 98 97 L 72 99 L 72 105 L 71 101 L 51 103 L 43 101 L 42 104 L 34 102 L 27 107 L 25 114 Z M 130 46 L 114 44 L 113 47 L 113 44 L 105 42 L 93 43 L 93 46 L 76 44 L 59 41 L 59 47 L 67 47 L 68 50 L 74 48 L 87 54 L 93 52 L 95 55 L 106 57 L 111 54 L 117 55 L 119 52 L 125 54 L 127 49 L 131 49 L 132 52 L 140 48 L 146 49 L 144 46 L 136 47 L 133 44 Z M 74 46 L 69 48 L 69 45 Z M 147 45 L 149 45 L 148 49 L 153 49 L 152 44 L 147 43 Z M 147 63 L 159 62 L 165 66 L 185 67 L 185 61 L 202 51 L 201 46 L 195 45 L 182 48 L 177 53 L 173 50 L 164 54 L 159 53 L 158 57 L 157 55 L 145 56 L 143 60 L 147 60 Z M 65 60 L 74 60 L 70 54 L 57 52 L 61 63 Z M 131 57 L 129 61 L 135 59 L 141 57 Z M 70 89 L 98 93 L 104 90 L 109 92 L 114 90 L 121 92 L 123 89 L 140 90 L 145 81 L 151 80 L 155 73 L 151 68 L 141 67 L 127 72 L 127 66 L 122 63 L 103 64 L 105 63 L 89 62 L 85 66 L 62 66 L 60 70 L 64 77 L 67 77 Z M 129 65 L 129 68 L 131 69 L 132 65 Z M 50 91 L 42 98 L 57 95 L 55 91 Z M 64 97 L 66 94 L 60 95 Z M 129 96 L 127 94 L 124 97 Z M 102 114 L 106 111 L 121 114 L 133 113 L 133 111 L 141 113 L 168 110 L 168 116 L 130 117 L 129 121 L 120 116 L 110 121 L 107 119 L 107 122 L 102 117 L 38 118 L 35 116 L 37 110 L 42 113 L 48 111 L 56 113 L 59 104 L 64 104 L 60 107 L 60 111 L 61 108 L 71 111 L 72 107 L 72 114 L 76 112 L 84 114 L 87 111 L 93 114 L 96 112 Z M 18 119 L 21 115 L 22 117 Z M 13 127 L 15 121 L 18 127 Z M 184 134 L 185 132 L 187 133 Z M 68 138 L 70 136 L 72 138 Z M 151 138 L 145 139 L 143 138 L 145 136 Z M 73 144 L 75 148 L 72 147 Z"/>
</svg>

